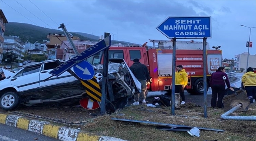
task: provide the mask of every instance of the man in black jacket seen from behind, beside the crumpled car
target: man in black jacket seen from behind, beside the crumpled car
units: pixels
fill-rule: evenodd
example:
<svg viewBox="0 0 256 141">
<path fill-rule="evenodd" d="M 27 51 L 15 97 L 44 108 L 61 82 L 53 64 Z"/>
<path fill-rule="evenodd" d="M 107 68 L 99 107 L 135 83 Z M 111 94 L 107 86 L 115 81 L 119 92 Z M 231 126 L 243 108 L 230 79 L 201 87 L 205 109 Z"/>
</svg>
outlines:
<svg viewBox="0 0 256 141">
<path fill-rule="evenodd" d="M 135 102 L 132 105 L 139 105 L 139 97 L 142 99 L 142 104 L 146 104 L 146 84 L 149 81 L 149 71 L 146 65 L 139 62 L 139 59 L 134 59 L 134 63 L 130 67 L 130 70 L 134 74 L 134 76 L 141 83 L 141 93 L 135 94 L 134 99 Z"/>
</svg>

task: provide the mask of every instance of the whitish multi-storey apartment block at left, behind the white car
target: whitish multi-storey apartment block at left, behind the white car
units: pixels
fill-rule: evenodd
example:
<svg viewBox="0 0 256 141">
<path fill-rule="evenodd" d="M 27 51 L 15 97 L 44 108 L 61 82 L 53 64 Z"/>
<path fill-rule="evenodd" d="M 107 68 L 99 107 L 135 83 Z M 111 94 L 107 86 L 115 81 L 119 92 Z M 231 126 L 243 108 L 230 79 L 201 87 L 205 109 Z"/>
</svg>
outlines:
<svg viewBox="0 0 256 141">
<path fill-rule="evenodd" d="M 16 54 L 18 60 L 23 60 L 25 48 L 19 36 L 4 36 L 3 52 L 11 51 Z"/>
</svg>

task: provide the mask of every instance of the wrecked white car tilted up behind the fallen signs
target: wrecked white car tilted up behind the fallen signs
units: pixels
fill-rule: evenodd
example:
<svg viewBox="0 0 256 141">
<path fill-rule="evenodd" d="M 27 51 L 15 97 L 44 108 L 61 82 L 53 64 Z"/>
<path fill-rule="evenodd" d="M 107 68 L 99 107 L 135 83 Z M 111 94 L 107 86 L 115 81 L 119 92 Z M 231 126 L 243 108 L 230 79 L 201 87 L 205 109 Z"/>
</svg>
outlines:
<svg viewBox="0 0 256 141">
<path fill-rule="evenodd" d="M 16 73 L 3 69 L 6 79 L 0 81 L 0 107 L 4 110 L 14 110 L 20 104 L 31 106 L 49 102 L 69 105 L 88 97 L 85 86 L 69 72 L 46 80 L 52 76 L 48 72 L 59 65 L 57 61 L 65 62 L 61 59 L 48 60 L 24 67 Z M 109 63 L 108 78 L 112 84 L 113 96 L 108 99 L 108 103 L 112 103 L 115 108 L 122 108 L 126 105 L 128 97 L 141 91 L 141 84 L 124 60 L 110 61 L 112 62 Z M 100 66 L 102 65 L 94 65 L 94 68 L 98 84 L 101 86 L 103 68 Z M 73 68 L 70 70 L 73 71 Z"/>
</svg>

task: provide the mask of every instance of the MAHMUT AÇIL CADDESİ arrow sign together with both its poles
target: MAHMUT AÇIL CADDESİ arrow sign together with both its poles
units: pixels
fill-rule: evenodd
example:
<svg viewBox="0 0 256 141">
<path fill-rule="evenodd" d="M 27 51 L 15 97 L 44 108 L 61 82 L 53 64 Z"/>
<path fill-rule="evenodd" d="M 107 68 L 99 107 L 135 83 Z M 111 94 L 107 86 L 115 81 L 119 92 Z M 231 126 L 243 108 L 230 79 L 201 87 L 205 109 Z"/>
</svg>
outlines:
<svg viewBox="0 0 256 141">
<path fill-rule="evenodd" d="M 207 117 L 206 39 L 211 38 L 211 16 L 168 17 L 156 27 L 167 38 L 173 40 L 172 98 L 175 101 L 176 39 L 203 39 L 204 70 L 204 117 Z M 171 103 L 172 115 L 174 102 Z"/>
</svg>

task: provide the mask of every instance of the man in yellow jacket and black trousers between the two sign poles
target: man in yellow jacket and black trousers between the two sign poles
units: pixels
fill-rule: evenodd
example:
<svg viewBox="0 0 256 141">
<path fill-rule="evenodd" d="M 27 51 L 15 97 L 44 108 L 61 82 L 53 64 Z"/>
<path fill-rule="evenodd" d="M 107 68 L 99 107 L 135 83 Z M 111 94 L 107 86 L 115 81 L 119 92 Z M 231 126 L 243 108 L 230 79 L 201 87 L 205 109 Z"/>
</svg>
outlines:
<svg viewBox="0 0 256 141">
<path fill-rule="evenodd" d="M 182 99 L 181 104 L 185 104 L 184 88 L 187 85 L 187 72 L 182 68 L 182 65 L 176 66 L 177 71 L 175 72 L 175 93 L 180 93 Z"/>
</svg>

